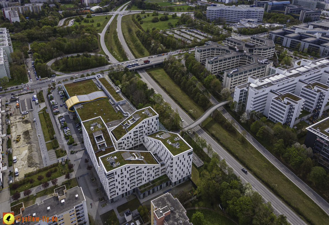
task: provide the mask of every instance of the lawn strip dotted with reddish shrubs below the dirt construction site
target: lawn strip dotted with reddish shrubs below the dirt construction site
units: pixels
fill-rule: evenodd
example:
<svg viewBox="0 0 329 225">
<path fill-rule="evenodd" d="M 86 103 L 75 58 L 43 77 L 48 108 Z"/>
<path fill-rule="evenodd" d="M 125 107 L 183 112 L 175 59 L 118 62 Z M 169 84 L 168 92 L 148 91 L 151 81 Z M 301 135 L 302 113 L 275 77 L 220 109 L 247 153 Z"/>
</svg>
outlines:
<svg viewBox="0 0 329 225">
<path fill-rule="evenodd" d="M 55 166 L 55 167 L 50 168 L 50 169 L 41 168 L 36 172 L 36 174 L 28 176 L 18 182 L 14 182 L 14 183 L 18 183 L 18 184 L 21 182 L 21 184 L 18 186 L 18 188 L 16 190 L 13 190 L 13 188 L 11 188 L 10 195 L 13 195 L 15 192 L 22 192 L 25 189 L 36 187 L 38 185 L 43 184 L 44 182 L 49 182 L 50 180 L 52 180 L 54 178 L 59 178 L 65 174 L 73 171 L 73 170 L 69 171 L 69 169 L 67 167 L 67 162 L 64 165 L 56 163 L 56 165 L 54 164 L 53 166 Z M 51 174 L 51 176 L 49 178 L 46 177 L 46 173 L 48 171 L 53 171 L 53 173 Z M 43 179 L 41 181 L 39 181 L 37 179 L 39 175 L 43 176 Z M 29 180 L 31 178 L 34 179 L 34 182 L 32 184 L 29 182 Z"/>
</svg>

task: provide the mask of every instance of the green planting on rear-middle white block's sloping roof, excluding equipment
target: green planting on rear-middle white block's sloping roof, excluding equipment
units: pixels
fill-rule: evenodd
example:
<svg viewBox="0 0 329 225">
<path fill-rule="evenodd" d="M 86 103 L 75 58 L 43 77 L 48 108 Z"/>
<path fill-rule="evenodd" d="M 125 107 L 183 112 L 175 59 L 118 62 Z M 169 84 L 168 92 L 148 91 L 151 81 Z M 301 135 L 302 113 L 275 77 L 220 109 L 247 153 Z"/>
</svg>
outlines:
<svg viewBox="0 0 329 225">
<path fill-rule="evenodd" d="M 156 112 L 154 112 L 151 107 L 147 108 L 148 111 L 153 115 L 158 115 Z M 115 127 L 112 130 L 112 133 L 114 134 L 116 140 L 119 140 L 120 138 L 123 137 L 123 135 L 127 134 L 129 131 L 131 131 L 137 124 L 139 124 L 141 121 L 149 118 L 149 116 L 146 113 L 143 113 L 145 109 L 139 110 L 134 112 L 130 117 L 125 119 L 123 122 L 121 122 L 117 127 Z M 138 114 L 140 116 L 139 119 L 137 119 L 133 124 L 131 124 L 128 128 L 123 129 L 123 124 L 126 123 L 126 121 L 130 120 L 133 118 L 134 115 Z"/>
</svg>

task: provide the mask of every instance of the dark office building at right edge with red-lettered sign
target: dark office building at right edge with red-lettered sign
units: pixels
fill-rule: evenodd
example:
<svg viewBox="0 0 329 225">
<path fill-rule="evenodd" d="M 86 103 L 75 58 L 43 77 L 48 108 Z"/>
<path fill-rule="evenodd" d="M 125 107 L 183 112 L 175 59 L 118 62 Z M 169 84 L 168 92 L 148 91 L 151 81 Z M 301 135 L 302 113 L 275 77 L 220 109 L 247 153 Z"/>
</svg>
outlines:
<svg viewBox="0 0 329 225">
<path fill-rule="evenodd" d="M 320 154 L 318 162 L 329 168 L 329 117 L 306 128 L 304 141 L 314 153 Z"/>
</svg>

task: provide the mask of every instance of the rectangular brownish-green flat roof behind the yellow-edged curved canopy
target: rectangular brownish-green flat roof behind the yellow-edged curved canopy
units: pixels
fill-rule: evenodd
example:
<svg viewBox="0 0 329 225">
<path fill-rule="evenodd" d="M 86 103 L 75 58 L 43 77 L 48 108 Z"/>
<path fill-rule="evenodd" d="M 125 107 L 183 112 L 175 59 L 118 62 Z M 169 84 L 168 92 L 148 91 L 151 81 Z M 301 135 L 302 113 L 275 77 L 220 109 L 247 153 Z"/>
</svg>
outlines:
<svg viewBox="0 0 329 225">
<path fill-rule="evenodd" d="M 76 83 L 64 84 L 65 89 L 70 97 L 74 95 L 87 95 L 94 91 L 99 91 L 92 79 Z"/>
</svg>

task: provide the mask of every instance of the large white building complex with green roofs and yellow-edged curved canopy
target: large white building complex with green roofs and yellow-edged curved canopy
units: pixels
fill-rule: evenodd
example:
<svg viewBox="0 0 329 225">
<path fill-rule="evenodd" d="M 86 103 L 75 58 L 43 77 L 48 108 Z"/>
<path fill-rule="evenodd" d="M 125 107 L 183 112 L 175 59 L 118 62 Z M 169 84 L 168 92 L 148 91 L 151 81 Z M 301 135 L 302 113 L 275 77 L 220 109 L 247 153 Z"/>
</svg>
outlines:
<svg viewBox="0 0 329 225">
<path fill-rule="evenodd" d="M 72 85 L 79 82 L 99 90 L 75 95 Z M 81 121 L 86 151 L 110 203 L 132 193 L 144 198 L 190 178 L 190 145 L 166 131 L 151 107 L 135 110 L 110 83 L 101 74 L 63 82 L 66 105 Z"/>
</svg>

